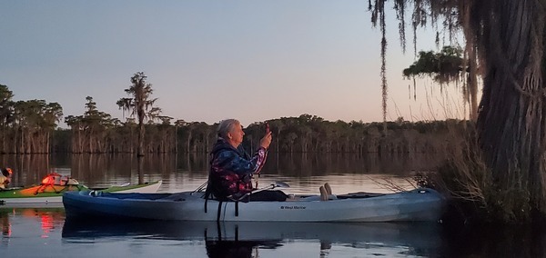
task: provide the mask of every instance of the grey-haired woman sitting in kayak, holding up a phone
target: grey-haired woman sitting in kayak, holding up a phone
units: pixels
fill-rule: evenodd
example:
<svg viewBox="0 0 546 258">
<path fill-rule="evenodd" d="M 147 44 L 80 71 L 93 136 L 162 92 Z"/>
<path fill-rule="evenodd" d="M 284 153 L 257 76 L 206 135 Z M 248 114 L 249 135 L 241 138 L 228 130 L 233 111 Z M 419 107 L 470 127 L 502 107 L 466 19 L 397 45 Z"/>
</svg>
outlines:
<svg viewBox="0 0 546 258">
<path fill-rule="evenodd" d="M 252 192 L 252 176 L 258 174 L 266 162 L 271 132 L 261 138 L 258 151 L 252 156 L 241 145 L 244 135 L 236 119 L 226 119 L 218 125 L 217 142 L 210 153 L 207 187 L 207 192 L 218 200 L 239 200 Z M 281 191 L 262 191 L 247 194 L 241 201 L 285 201 L 286 198 Z"/>
</svg>

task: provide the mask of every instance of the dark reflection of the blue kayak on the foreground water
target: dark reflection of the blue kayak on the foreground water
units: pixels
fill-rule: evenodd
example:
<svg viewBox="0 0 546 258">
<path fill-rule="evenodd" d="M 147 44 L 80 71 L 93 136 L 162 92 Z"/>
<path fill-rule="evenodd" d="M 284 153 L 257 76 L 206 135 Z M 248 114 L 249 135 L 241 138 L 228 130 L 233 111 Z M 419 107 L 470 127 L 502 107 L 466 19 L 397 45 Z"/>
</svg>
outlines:
<svg viewBox="0 0 546 258">
<path fill-rule="evenodd" d="M 396 248 L 411 255 L 438 253 L 437 223 L 256 223 L 79 220 L 66 218 L 63 240 L 86 243 L 109 237 L 204 241 L 209 257 L 258 257 L 294 241 L 318 243 L 321 253 L 332 246 Z M 402 251 L 400 251 L 402 250 Z"/>
</svg>

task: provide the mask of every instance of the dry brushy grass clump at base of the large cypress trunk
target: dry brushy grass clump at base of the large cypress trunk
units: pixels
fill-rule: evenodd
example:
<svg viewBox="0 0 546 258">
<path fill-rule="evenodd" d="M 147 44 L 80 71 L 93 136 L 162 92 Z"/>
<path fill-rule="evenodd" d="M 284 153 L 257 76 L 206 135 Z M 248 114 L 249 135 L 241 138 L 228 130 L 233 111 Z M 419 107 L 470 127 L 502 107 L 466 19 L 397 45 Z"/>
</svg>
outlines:
<svg viewBox="0 0 546 258">
<path fill-rule="evenodd" d="M 435 173 L 418 174 L 418 185 L 448 197 L 447 223 L 527 223 L 531 221 L 530 189 L 521 180 L 499 184 L 483 160 L 474 127 L 467 127 L 464 144 L 450 149 Z"/>
</svg>

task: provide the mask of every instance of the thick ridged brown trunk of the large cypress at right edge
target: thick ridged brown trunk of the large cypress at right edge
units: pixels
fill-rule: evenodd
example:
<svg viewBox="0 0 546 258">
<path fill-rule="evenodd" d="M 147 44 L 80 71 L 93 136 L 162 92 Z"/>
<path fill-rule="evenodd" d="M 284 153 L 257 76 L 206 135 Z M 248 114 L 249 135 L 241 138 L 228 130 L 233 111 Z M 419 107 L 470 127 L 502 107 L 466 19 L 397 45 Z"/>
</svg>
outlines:
<svg viewBox="0 0 546 258">
<path fill-rule="evenodd" d="M 545 6 L 539 0 L 490 2 L 477 7 L 489 8 L 490 17 L 471 28 L 483 30 L 479 53 L 487 67 L 480 146 L 501 189 L 528 189 L 531 207 L 546 213 Z"/>
</svg>

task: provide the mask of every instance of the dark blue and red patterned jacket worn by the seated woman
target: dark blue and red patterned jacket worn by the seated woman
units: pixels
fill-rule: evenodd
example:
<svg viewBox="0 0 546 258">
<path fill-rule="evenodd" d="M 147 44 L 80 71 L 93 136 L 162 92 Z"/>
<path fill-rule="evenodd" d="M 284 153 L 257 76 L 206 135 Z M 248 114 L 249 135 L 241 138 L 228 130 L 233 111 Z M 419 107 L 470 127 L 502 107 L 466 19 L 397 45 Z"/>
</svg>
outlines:
<svg viewBox="0 0 546 258">
<path fill-rule="evenodd" d="M 266 149 L 262 147 L 250 156 L 241 145 L 236 149 L 218 138 L 210 153 L 210 193 L 219 200 L 227 200 L 230 195 L 237 197 L 252 191 L 252 175 L 259 173 L 266 156 Z"/>
</svg>

